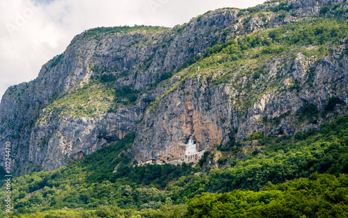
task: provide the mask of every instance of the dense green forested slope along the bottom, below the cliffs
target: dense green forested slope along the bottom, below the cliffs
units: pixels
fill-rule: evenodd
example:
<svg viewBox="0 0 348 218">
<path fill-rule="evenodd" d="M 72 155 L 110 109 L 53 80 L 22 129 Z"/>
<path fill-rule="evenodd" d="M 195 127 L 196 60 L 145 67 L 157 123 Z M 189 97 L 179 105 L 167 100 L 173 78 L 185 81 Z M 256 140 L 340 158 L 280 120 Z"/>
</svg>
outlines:
<svg viewBox="0 0 348 218">
<path fill-rule="evenodd" d="M 348 212 L 348 116 L 294 137 L 254 134 L 246 140 L 258 140 L 262 151 L 251 149 L 244 159 L 235 153 L 226 167 L 207 172 L 201 167 L 209 169 L 204 161 L 213 153 L 196 167 L 138 166 L 129 153 L 134 137 L 129 133 L 81 160 L 70 160 L 67 167 L 14 178 L 13 214 L 339 217 Z"/>
</svg>

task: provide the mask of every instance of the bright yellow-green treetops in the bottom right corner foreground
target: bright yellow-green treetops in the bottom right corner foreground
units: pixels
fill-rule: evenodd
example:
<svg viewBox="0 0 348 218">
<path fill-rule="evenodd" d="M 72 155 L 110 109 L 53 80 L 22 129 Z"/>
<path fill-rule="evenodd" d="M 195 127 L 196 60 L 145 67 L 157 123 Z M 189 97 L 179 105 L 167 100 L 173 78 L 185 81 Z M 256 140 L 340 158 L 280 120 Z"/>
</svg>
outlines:
<svg viewBox="0 0 348 218">
<path fill-rule="evenodd" d="M 261 192 L 209 192 L 187 202 L 187 217 L 347 217 L 348 176 L 312 174 Z"/>
</svg>

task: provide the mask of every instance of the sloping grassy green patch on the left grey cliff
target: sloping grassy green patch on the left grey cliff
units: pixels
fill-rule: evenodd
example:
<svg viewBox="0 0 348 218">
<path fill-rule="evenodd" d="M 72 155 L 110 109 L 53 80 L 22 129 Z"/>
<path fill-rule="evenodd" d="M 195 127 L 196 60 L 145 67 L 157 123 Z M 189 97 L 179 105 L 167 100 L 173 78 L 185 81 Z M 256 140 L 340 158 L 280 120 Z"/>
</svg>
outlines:
<svg viewBox="0 0 348 218">
<path fill-rule="evenodd" d="M 115 81 L 113 78 L 112 74 L 103 74 L 82 87 L 68 90 L 65 96 L 43 109 L 38 121 L 53 119 L 55 115 L 95 118 L 134 105 L 141 92 L 128 86 L 115 88 L 110 84 Z"/>
</svg>

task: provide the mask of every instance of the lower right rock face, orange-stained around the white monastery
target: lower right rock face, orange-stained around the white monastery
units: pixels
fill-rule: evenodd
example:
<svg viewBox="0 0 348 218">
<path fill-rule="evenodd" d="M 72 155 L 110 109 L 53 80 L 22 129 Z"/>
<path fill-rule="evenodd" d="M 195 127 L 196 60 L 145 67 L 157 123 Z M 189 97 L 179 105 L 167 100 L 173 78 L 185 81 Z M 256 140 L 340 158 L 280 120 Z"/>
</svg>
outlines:
<svg viewBox="0 0 348 218">
<path fill-rule="evenodd" d="M 243 110 L 231 99 L 243 95 L 234 88 L 245 83 L 244 79 L 237 80 L 239 72 L 223 85 L 214 85 L 199 75 L 188 78 L 145 114 L 134 142 L 136 159 L 143 162 L 183 158 L 185 147 L 182 145 L 190 135 L 196 137 L 200 149 L 211 150 L 216 144 L 243 140 L 253 132 L 293 135 L 297 131 L 319 128 L 327 120 L 317 117 L 313 122 L 303 121 L 298 119 L 297 113 L 310 103 L 324 110 L 332 96 L 342 99 L 347 106 L 347 44 L 341 48 L 344 49 L 335 51 L 333 56 L 322 56 L 316 62 L 308 60 L 302 53 L 297 53 L 294 60 L 283 58 L 266 62 L 267 73 L 263 76 L 267 83 L 273 83 L 274 66 L 287 62 L 292 67 L 278 70 L 281 78 L 276 80 L 283 85 L 269 92 L 260 90 L 260 94 L 252 97 L 253 103 Z M 251 83 L 251 78 L 246 79 Z M 267 86 L 264 80 L 252 83 L 255 83 L 254 87 Z M 294 84 L 296 89 L 292 87 Z M 338 112 L 347 113 L 347 107 Z M 278 121 L 274 122 L 276 118 Z"/>
</svg>

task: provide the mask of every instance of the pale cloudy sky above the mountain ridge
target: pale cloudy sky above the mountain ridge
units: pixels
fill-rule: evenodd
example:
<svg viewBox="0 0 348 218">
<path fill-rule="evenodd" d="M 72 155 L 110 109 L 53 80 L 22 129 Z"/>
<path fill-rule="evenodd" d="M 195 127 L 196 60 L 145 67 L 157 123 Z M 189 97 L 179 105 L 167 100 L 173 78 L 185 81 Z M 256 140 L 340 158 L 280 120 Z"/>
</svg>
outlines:
<svg viewBox="0 0 348 218">
<path fill-rule="evenodd" d="M 0 97 L 29 82 L 74 37 L 98 26 L 173 27 L 208 10 L 264 0 L 0 0 Z"/>
</svg>

